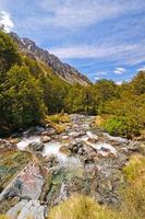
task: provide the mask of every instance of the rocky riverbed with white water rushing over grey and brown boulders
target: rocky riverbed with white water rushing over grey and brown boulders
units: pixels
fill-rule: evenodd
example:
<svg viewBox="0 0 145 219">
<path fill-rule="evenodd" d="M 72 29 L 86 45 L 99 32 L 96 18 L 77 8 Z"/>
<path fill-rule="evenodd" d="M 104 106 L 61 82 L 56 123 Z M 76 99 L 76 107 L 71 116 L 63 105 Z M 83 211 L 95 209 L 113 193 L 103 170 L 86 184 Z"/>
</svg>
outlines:
<svg viewBox="0 0 145 219">
<path fill-rule="evenodd" d="M 141 142 L 100 131 L 92 116 L 70 117 L 61 134 L 48 125 L 0 139 L 0 212 L 44 219 L 74 193 L 119 205 L 122 168 Z"/>
</svg>

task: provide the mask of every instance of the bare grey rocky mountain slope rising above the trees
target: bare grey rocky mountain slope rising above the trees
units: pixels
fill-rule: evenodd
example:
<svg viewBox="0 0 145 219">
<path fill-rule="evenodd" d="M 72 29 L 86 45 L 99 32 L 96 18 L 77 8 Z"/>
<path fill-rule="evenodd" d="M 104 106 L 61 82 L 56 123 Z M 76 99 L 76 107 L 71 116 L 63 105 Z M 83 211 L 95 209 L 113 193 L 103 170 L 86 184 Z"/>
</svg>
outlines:
<svg viewBox="0 0 145 219">
<path fill-rule="evenodd" d="M 80 83 L 82 85 L 87 85 L 90 83 L 87 77 L 80 73 L 70 65 L 61 62 L 58 57 L 49 54 L 49 51 L 39 48 L 33 41 L 28 38 L 21 38 L 15 33 L 11 33 L 10 35 L 13 37 L 13 39 L 19 45 L 19 48 L 23 53 L 45 62 L 55 71 L 55 73 L 57 73 L 61 79 L 69 82 L 70 84 Z"/>
</svg>

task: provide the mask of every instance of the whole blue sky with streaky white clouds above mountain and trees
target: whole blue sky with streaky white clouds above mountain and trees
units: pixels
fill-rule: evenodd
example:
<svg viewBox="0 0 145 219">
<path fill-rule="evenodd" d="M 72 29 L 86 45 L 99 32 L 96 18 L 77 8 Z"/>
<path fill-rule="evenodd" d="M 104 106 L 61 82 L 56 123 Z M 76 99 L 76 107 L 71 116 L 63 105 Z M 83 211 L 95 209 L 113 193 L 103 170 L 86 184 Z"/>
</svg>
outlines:
<svg viewBox="0 0 145 219">
<path fill-rule="evenodd" d="M 92 81 L 145 69 L 145 0 L 0 0 L 0 20 Z"/>
</svg>

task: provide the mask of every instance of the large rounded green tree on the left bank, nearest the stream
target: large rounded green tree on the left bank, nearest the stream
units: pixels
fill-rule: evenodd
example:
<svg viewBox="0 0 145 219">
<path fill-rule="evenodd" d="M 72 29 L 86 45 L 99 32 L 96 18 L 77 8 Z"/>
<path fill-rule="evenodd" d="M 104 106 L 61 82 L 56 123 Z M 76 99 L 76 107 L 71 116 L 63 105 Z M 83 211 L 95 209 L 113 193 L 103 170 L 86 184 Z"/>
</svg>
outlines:
<svg viewBox="0 0 145 219">
<path fill-rule="evenodd" d="M 10 129 L 39 123 L 45 115 L 43 90 L 25 66 L 7 72 L 0 105 L 0 122 Z"/>
</svg>

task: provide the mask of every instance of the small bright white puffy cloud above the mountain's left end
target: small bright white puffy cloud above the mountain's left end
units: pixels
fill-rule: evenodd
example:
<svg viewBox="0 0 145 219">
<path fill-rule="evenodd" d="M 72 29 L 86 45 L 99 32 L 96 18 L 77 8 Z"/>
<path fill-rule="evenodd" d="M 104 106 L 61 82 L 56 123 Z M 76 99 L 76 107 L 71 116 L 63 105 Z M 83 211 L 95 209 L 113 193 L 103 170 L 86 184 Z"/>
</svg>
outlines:
<svg viewBox="0 0 145 219">
<path fill-rule="evenodd" d="M 0 25 L 4 26 L 5 32 L 10 32 L 14 27 L 11 15 L 5 11 L 0 11 Z"/>
</svg>

